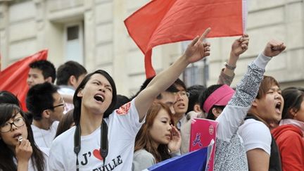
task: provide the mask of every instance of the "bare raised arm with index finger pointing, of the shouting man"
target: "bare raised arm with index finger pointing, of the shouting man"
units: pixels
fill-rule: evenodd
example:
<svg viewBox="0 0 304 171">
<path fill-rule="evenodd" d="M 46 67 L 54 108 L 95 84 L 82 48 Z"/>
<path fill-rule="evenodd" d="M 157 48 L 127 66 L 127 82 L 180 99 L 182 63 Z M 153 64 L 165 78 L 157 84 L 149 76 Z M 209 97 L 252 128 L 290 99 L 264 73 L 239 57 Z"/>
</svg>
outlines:
<svg viewBox="0 0 304 171">
<path fill-rule="evenodd" d="M 188 45 L 184 54 L 175 61 L 169 68 L 160 72 L 156 77 L 151 80 L 146 89 L 141 91 L 139 95 L 135 98 L 135 106 L 139 113 L 139 120 L 141 121 L 146 115 L 146 111 L 151 106 L 153 100 L 162 91 L 165 91 L 167 87 L 177 80 L 179 75 L 184 71 L 189 63 L 194 63 L 201 60 L 205 56 L 210 55 L 210 44 L 203 42 L 210 28 L 205 30 L 201 37 L 196 37 Z"/>
</svg>

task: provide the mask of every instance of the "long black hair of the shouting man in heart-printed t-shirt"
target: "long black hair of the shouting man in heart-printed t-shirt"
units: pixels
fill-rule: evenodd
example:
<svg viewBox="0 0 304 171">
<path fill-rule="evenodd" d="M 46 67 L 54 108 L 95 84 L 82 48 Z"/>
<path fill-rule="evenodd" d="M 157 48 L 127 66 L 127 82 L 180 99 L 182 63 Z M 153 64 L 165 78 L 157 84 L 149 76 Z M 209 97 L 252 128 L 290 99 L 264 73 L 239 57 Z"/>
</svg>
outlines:
<svg viewBox="0 0 304 171">
<path fill-rule="evenodd" d="M 117 99 L 115 82 L 114 82 L 113 78 L 108 74 L 108 72 L 106 72 L 104 70 L 96 70 L 95 72 L 91 72 L 87 76 L 85 76 L 84 79 L 82 80 L 82 82 L 80 82 L 80 85 L 75 90 L 75 94 L 73 96 L 73 103 L 74 103 L 73 117 L 74 117 L 75 125 L 80 124 L 81 104 L 82 104 L 82 97 L 77 96 L 77 94 L 81 89 L 84 88 L 84 86 L 87 84 L 87 82 L 89 82 L 89 80 L 91 79 L 91 76 L 94 74 L 100 74 L 100 75 L 103 75 L 103 77 L 106 77 L 106 79 L 108 80 L 108 82 L 110 83 L 110 85 L 112 87 L 112 95 L 113 95 L 112 101 L 110 103 L 110 106 L 105 111 L 105 113 L 103 113 L 103 118 L 108 118 L 110 113 L 112 113 L 114 110 L 114 106 L 115 106 L 116 99 Z"/>
</svg>

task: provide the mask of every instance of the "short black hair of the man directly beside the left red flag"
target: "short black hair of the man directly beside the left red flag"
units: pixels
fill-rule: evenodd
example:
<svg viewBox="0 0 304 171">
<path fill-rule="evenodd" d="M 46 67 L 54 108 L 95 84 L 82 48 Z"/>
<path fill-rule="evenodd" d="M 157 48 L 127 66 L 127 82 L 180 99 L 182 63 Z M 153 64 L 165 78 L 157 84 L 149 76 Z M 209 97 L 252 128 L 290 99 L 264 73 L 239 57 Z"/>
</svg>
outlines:
<svg viewBox="0 0 304 171">
<path fill-rule="evenodd" d="M 42 75 L 44 76 L 44 79 L 51 77 L 51 82 L 55 82 L 56 80 L 56 68 L 50 61 L 46 60 L 40 60 L 40 61 L 34 61 L 30 63 L 30 68 L 37 68 L 39 70 L 42 70 Z"/>
</svg>

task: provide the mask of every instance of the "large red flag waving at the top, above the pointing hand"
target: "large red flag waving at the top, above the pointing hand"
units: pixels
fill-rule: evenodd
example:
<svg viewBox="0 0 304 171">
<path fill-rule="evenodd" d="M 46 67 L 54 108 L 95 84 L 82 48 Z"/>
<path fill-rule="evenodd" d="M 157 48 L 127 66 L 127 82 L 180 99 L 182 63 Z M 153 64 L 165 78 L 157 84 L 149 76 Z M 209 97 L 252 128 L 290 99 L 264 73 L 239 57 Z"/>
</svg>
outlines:
<svg viewBox="0 0 304 171">
<path fill-rule="evenodd" d="M 211 27 L 208 37 L 243 34 L 245 0 L 153 0 L 125 20 L 130 37 L 145 54 L 146 77 L 155 75 L 154 46 L 194 39 Z"/>
</svg>

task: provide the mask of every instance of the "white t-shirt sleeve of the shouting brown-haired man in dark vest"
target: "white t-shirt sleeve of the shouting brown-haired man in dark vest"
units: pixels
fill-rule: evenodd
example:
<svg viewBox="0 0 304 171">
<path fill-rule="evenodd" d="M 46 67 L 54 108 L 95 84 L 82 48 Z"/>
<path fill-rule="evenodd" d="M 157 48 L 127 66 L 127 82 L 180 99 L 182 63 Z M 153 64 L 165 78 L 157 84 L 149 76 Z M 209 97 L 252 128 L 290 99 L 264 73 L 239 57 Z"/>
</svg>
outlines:
<svg viewBox="0 0 304 171">
<path fill-rule="evenodd" d="M 245 120 L 239 127 L 239 134 L 243 138 L 246 152 L 261 148 L 270 155 L 272 137 L 270 129 L 263 122 L 254 119 Z"/>
</svg>

